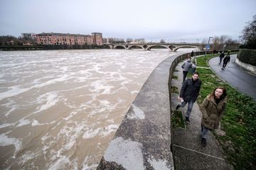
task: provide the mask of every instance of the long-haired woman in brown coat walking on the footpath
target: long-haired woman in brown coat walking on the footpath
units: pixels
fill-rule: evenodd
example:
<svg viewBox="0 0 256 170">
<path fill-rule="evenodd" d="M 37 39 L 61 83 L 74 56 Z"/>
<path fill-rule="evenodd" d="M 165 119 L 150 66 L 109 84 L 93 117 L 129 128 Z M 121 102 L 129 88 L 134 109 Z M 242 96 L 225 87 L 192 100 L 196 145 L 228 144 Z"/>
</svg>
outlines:
<svg viewBox="0 0 256 170">
<path fill-rule="evenodd" d="M 208 130 L 217 129 L 220 125 L 220 119 L 223 117 L 227 100 L 226 89 L 223 86 L 219 86 L 200 105 L 203 114 L 201 119 L 201 142 L 203 147 L 206 147 Z"/>
</svg>

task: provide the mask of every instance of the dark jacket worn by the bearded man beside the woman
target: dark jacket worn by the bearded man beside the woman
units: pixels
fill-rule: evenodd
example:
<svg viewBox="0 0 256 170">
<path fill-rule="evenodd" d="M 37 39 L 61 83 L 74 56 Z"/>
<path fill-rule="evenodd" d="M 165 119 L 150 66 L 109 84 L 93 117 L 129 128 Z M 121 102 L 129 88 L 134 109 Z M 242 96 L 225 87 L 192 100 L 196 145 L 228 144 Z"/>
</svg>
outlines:
<svg viewBox="0 0 256 170">
<path fill-rule="evenodd" d="M 180 98 L 183 98 L 184 101 L 196 101 L 196 98 L 199 95 L 202 81 L 197 79 L 193 84 L 193 80 L 186 79 L 181 86 Z"/>
</svg>

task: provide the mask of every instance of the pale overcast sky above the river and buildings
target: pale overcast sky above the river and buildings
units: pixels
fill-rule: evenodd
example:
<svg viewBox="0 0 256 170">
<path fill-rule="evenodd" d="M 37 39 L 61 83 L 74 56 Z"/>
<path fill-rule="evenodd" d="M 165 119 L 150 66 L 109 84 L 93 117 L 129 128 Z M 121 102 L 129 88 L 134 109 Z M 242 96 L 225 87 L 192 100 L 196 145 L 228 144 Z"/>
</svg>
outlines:
<svg viewBox="0 0 256 170">
<path fill-rule="evenodd" d="M 100 32 L 103 38 L 238 40 L 256 0 L 0 0 L 0 35 Z"/>
</svg>

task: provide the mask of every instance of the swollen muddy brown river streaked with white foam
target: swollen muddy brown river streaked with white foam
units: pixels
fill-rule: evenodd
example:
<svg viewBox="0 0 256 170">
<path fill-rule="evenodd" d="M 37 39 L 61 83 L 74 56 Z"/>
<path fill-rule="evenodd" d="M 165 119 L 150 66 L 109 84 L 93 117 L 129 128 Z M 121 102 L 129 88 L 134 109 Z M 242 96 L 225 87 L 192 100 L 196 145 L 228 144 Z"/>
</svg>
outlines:
<svg viewBox="0 0 256 170">
<path fill-rule="evenodd" d="M 177 53 L 1 51 L 0 169 L 96 169 L 146 79 Z"/>
</svg>

